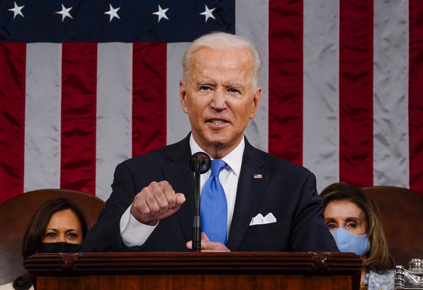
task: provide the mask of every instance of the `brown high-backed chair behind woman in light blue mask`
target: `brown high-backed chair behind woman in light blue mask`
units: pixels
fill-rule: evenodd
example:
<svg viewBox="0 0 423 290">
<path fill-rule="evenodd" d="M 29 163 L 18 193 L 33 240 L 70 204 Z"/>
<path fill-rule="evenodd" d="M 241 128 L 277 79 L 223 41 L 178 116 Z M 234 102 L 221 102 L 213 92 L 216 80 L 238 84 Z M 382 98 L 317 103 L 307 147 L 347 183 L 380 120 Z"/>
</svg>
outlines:
<svg viewBox="0 0 423 290">
<path fill-rule="evenodd" d="M 423 195 L 395 186 L 371 186 L 363 190 L 379 208 L 396 265 L 408 269 L 410 259 L 423 259 Z"/>
</svg>

